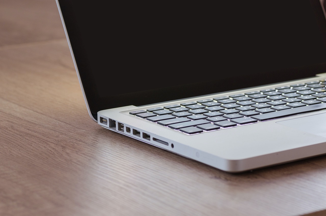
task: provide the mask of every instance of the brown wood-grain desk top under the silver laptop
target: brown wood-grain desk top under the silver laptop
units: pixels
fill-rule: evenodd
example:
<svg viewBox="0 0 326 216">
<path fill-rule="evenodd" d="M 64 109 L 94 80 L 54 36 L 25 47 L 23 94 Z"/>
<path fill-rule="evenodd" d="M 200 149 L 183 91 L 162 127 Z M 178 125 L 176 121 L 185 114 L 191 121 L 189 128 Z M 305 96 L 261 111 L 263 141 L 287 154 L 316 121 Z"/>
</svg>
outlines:
<svg viewBox="0 0 326 216">
<path fill-rule="evenodd" d="M 91 120 L 54 0 L 0 3 L 0 215 L 326 215 L 326 156 L 228 174 Z"/>
</svg>

